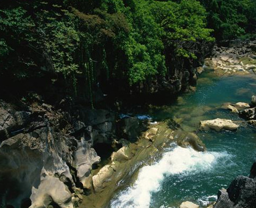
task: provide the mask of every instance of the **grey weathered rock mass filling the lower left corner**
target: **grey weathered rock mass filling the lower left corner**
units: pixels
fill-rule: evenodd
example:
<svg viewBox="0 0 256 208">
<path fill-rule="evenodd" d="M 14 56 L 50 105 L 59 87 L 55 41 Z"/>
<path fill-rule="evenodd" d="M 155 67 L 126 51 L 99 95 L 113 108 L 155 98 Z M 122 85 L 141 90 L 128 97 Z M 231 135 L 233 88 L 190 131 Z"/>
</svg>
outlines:
<svg viewBox="0 0 256 208">
<path fill-rule="evenodd" d="M 94 117 L 90 127 L 45 103 L 17 110 L 4 101 L 0 114 L 0 202 L 15 208 L 78 205 L 83 189 L 92 187 L 92 165 L 100 162 L 93 136 L 106 130 L 99 125 L 111 116 L 101 111 L 103 118 Z"/>
</svg>

